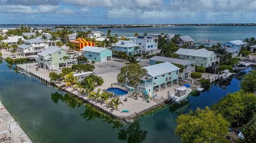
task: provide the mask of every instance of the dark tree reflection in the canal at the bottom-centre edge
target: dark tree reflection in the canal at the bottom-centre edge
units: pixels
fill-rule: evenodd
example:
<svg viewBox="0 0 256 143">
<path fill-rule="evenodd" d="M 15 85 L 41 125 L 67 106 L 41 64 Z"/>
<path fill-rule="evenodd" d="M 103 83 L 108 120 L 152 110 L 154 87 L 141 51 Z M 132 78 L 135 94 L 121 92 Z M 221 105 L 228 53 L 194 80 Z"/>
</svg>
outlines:
<svg viewBox="0 0 256 143">
<path fill-rule="evenodd" d="M 135 120 L 127 129 L 121 129 L 118 133 L 119 140 L 126 140 L 128 143 L 139 143 L 146 139 L 148 132 L 141 130 L 140 124 Z"/>
</svg>

